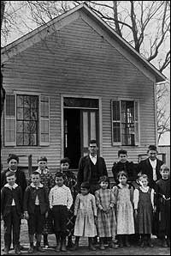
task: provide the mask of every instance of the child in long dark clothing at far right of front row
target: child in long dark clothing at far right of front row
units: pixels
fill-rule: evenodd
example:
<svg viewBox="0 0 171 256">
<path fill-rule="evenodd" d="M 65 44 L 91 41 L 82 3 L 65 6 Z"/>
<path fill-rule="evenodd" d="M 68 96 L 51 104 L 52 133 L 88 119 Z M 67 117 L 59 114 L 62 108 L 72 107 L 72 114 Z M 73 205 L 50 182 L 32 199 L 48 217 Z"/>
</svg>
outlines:
<svg viewBox="0 0 171 256">
<path fill-rule="evenodd" d="M 170 177 L 169 168 L 163 164 L 160 169 L 162 179 L 156 181 L 156 214 L 158 235 L 162 247 L 170 246 Z"/>
</svg>

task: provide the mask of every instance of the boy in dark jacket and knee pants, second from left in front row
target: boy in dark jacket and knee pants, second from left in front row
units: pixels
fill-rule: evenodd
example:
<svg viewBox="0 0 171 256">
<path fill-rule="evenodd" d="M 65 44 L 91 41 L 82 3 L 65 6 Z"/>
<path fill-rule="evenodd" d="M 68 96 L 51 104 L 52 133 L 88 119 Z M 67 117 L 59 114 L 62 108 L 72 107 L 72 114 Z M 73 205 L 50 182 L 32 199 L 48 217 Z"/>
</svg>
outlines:
<svg viewBox="0 0 171 256">
<path fill-rule="evenodd" d="M 42 232 L 44 229 L 44 218 L 48 216 L 49 198 L 48 193 L 40 183 L 40 174 L 32 173 L 32 183 L 27 186 L 24 195 L 24 216 L 28 223 L 28 235 L 30 247 L 28 253 L 33 253 L 33 238 L 36 234 L 36 249 L 38 252 L 44 253 L 44 249 L 40 247 Z"/>
</svg>

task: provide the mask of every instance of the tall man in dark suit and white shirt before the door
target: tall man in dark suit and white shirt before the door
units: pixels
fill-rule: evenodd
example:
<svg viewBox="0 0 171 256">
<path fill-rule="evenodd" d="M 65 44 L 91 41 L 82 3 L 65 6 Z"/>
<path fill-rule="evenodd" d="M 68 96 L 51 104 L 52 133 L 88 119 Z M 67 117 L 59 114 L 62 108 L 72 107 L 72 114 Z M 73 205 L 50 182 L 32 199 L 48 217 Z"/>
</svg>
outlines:
<svg viewBox="0 0 171 256">
<path fill-rule="evenodd" d="M 98 180 L 100 176 L 108 176 L 106 164 L 103 157 L 97 155 L 97 142 L 91 140 L 89 143 L 89 155 L 80 158 L 79 172 L 77 174 L 77 184 L 80 185 L 84 181 L 88 181 L 91 185 L 90 192 L 94 192 L 99 188 Z"/>
</svg>

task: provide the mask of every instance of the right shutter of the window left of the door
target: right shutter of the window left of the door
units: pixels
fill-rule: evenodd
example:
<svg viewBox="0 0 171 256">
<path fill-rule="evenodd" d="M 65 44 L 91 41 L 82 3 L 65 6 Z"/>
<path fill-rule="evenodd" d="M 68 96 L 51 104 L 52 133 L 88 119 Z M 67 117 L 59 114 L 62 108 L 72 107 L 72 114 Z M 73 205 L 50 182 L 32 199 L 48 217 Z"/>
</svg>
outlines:
<svg viewBox="0 0 171 256">
<path fill-rule="evenodd" d="M 39 101 L 39 142 L 41 146 L 50 144 L 50 97 L 40 96 Z"/>
</svg>

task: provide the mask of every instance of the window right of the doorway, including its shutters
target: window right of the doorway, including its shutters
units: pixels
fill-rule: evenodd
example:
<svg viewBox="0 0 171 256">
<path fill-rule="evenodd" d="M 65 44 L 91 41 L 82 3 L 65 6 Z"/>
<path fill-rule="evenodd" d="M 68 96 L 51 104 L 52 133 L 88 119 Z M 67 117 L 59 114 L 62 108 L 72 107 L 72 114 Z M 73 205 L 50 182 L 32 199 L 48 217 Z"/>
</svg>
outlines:
<svg viewBox="0 0 171 256">
<path fill-rule="evenodd" d="M 113 145 L 136 145 L 139 143 L 139 120 L 137 101 L 111 101 Z"/>
</svg>

